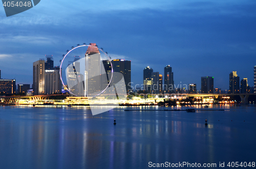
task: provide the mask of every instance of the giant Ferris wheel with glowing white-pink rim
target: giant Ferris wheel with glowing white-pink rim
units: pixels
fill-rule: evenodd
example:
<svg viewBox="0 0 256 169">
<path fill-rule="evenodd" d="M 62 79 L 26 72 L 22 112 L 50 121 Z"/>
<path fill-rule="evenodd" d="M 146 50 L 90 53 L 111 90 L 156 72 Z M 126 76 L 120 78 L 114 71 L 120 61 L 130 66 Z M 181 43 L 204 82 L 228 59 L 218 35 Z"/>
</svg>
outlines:
<svg viewBox="0 0 256 169">
<path fill-rule="evenodd" d="M 87 52 L 86 54 L 84 54 L 84 57 L 79 56 L 79 58 L 75 59 L 72 63 L 69 63 L 68 67 L 66 68 L 67 84 L 65 84 L 63 82 L 62 73 L 61 73 L 61 68 L 63 68 L 63 63 L 65 59 L 67 60 L 68 58 L 67 56 L 69 56 L 69 54 L 71 54 L 72 52 L 78 49 L 81 49 L 82 47 L 88 47 Z M 106 83 L 103 88 L 101 87 L 101 90 L 99 90 L 99 87 L 98 87 L 97 90 L 95 89 L 96 92 L 94 92 L 94 90 L 92 90 L 91 88 L 93 87 L 96 88 L 100 84 L 99 81 L 95 82 L 95 79 L 99 79 L 99 76 L 101 76 L 101 74 L 99 74 L 100 69 L 104 69 L 101 65 L 102 61 L 100 59 L 101 57 L 100 57 L 99 51 L 103 53 L 106 60 L 108 60 L 109 65 L 111 66 L 111 70 L 110 70 L 111 74 L 109 74 L 111 75 L 111 77 L 108 77 L 108 83 Z M 90 92 L 90 89 L 91 89 L 92 91 L 90 95 L 92 97 L 95 97 L 102 94 L 103 92 L 106 91 L 108 87 L 110 87 L 110 83 L 113 81 L 113 65 L 111 62 L 111 58 L 108 56 L 108 52 L 104 52 L 102 48 L 99 49 L 95 43 L 90 43 L 89 45 L 86 43 L 83 43 L 82 45 L 77 44 L 76 47 L 72 46 L 71 50 L 67 50 L 66 52 L 67 53 L 65 55 L 62 55 L 63 59 L 60 60 L 61 62 L 60 63 L 60 80 L 65 90 L 69 91 L 70 94 L 74 96 L 81 96 L 81 95 L 88 96 L 88 92 Z M 76 71 L 77 68 L 79 68 L 79 71 Z M 102 76 L 100 78 L 102 78 Z M 94 83 L 92 82 L 90 83 L 91 79 L 94 79 L 93 81 Z M 74 86 L 76 86 L 76 89 L 74 89 Z M 77 86 L 79 86 L 78 87 L 79 89 L 77 89 Z"/>
</svg>

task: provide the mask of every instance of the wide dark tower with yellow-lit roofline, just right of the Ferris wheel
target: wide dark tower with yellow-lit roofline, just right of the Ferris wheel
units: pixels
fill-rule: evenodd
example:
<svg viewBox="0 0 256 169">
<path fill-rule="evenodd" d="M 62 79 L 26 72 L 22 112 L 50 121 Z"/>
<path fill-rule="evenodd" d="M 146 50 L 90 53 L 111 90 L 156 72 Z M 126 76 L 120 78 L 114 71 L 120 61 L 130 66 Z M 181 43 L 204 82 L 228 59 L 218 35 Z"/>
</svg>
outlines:
<svg viewBox="0 0 256 169">
<path fill-rule="evenodd" d="M 113 65 L 114 72 L 121 73 L 123 75 L 126 92 L 131 91 L 131 61 L 124 60 L 124 59 L 114 59 L 112 60 L 112 65 Z M 116 77 L 116 78 L 121 79 L 121 77 Z"/>
</svg>

